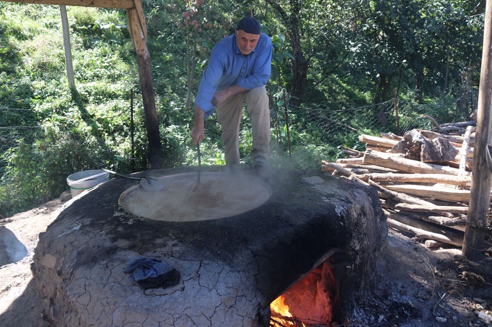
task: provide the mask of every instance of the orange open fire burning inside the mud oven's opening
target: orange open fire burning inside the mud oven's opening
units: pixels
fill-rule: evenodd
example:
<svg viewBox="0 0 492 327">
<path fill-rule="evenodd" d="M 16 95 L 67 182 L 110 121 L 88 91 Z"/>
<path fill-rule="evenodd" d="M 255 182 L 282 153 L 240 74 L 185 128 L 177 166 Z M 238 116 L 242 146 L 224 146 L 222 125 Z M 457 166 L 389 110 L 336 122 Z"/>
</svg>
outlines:
<svg viewBox="0 0 492 327">
<path fill-rule="evenodd" d="M 325 261 L 270 304 L 270 326 L 328 326 L 337 302 L 335 274 Z"/>
</svg>

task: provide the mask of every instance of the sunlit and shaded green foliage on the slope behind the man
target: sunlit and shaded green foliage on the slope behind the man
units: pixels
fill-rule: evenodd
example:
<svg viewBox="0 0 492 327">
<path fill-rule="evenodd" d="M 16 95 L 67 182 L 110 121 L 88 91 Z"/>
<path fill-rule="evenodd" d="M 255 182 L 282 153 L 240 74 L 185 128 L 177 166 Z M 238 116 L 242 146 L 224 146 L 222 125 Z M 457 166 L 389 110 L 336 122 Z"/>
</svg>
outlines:
<svg viewBox="0 0 492 327">
<path fill-rule="evenodd" d="M 376 117 L 380 108 L 369 104 L 386 103 L 392 89 L 399 93 L 402 131 L 429 126 L 425 115 L 438 122 L 468 120 L 476 104 L 484 10 L 470 1 L 150 0 L 143 6 L 166 167 L 197 164 L 188 135 L 193 96 L 215 43 L 251 11 L 274 45 L 267 85 L 274 165 L 319 171 L 321 160 L 338 157 L 339 145 L 362 150 L 358 134 L 383 129 Z M 77 171 L 147 169 L 145 117 L 125 12 L 69 7 L 68 20 L 73 92 L 66 83 L 59 8 L 0 2 L 0 133 L 19 127 L 8 140 L 0 138 L 2 216 L 58 196 Z M 293 36 L 299 36 L 307 62 L 299 107 L 289 99 L 298 82 Z M 395 115 L 386 118 L 385 131 L 396 132 Z M 246 113 L 240 133 L 241 158 L 250 164 Z M 203 164 L 225 164 L 215 115 L 206 121 L 201 152 Z"/>
</svg>

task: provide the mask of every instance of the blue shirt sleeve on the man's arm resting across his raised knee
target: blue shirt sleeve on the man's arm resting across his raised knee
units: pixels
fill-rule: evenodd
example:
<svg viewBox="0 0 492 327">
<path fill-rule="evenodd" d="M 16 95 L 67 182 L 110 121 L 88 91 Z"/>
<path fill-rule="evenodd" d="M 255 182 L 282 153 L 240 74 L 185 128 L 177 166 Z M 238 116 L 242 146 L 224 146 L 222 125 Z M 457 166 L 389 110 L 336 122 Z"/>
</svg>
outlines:
<svg viewBox="0 0 492 327">
<path fill-rule="evenodd" d="M 238 80 L 237 84 L 248 90 L 266 85 L 272 71 L 272 40 L 266 34 L 261 35 L 261 43 L 258 44 L 258 54 L 251 67 L 249 75 Z"/>
</svg>

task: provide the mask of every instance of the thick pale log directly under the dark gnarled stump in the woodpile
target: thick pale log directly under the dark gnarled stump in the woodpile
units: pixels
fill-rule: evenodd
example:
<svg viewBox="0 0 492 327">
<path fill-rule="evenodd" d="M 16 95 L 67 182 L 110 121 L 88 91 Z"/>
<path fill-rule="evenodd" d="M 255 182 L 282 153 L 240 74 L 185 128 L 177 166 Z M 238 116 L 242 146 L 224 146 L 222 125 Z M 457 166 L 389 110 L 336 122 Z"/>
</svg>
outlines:
<svg viewBox="0 0 492 327">
<path fill-rule="evenodd" d="M 397 169 L 417 174 L 447 174 L 458 175 L 459 170 L 438 164 L 426 164 L 419 161 L 381 155 L 380 152 L 367 151 L 363 157 L 364 164 L 376 164 L 379 166 Z"/>
</svg>

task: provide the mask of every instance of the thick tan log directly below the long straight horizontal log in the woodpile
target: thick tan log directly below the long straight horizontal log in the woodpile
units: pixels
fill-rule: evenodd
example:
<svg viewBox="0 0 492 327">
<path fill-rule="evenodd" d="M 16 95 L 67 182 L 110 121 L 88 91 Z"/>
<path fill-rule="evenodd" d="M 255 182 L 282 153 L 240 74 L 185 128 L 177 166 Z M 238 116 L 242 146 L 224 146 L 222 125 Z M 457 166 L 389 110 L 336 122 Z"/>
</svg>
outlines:
<svg viewBox="0 0 492 327">
<path fill-rule="evenodd" d="M 445 187 L 438 188 L 426 185 L 397 183 L 381 183 L 381 186 L 391 191 L 405 193 L 418 197 L 428 197 L 451 202 L 468 203 L 470 201 L 470 191 L 467 190 L 455 190 Z"/>
</svg>

